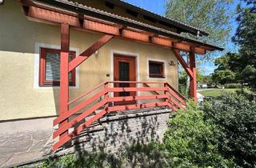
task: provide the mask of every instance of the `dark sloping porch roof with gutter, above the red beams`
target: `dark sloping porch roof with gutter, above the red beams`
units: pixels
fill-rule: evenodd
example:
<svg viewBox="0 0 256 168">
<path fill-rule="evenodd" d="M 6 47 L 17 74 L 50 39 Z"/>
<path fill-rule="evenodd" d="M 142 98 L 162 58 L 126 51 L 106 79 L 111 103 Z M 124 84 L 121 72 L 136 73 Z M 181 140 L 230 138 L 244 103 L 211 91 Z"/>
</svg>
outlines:
<svg viewBox="0 0 256 168">
<path fill-rule="evenodd" d="M 169 38 L 178 39 L 181 42 L 190 42 L 195 45 L 202 46 L 206 50 L 223 50 L 223 48 L 201 42 L 198 39 L 188 38 L 182 34 L 175 33 L 170 30 L 159 28 L 156 26 L 151 26 L 149 24 L 138 22 L 131 18 L 125 18 L 117 14 L 112 14 L 103 10 L 98 10 L 90 6 L 82 5 L 78 2 L 73 2 L 70 0 L 36 0 L 37 2 L 43 2 L 49 6 L 55 6 L 62 8 L 63 10 L 72 11 L 77 14 L 85 14 L 90 17 L 100 18 L 109 22 L 116 22 L 123 26 L 129 26 L 138 30 L 145 30 L 154 34 L 162 35 Z M 112 0 L 111 0 L 112 1 Z"/>
</svg>

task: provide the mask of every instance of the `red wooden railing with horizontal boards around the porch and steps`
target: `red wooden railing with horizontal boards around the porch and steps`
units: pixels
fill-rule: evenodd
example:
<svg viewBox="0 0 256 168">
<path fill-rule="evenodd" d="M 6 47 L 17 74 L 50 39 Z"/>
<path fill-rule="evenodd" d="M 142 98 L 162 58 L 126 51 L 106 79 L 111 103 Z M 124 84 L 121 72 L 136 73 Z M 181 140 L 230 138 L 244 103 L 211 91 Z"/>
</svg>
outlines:
<svg viewBox="0 0 256 168">
<path fill-rule="evenodd" d="M 118 83 L 135 83 L 136 87 L 114 87 L 118 86 Z M 110 85 L 111 84 L 111 85 Z M 151 87 L 149 84 L 157 84 L 157 87 Z M 143 86 L 139 86 L 143 85 Z M 159 86 L 161 85 L 161 86 Z M 97 91 L 96 91 L 97 90 Z M 94 93 L 95 92 L 95 93 Z M 115 92 L 136 92 L 135 96 L 126 97 L 114 97 L 110 93 Z M 142 92 L 143 95 L 138 95 L 138 92 Z M 151 93 L 145 94 L 144 93 Z M 90 94 L 94 93 L 89 97 Z M 82 98 L 86 98 L 82 100 Z M 139 101 L 151 102 L 139 103 Z M 152 102 L 155 100 L 154 102 Z M 135 104 L 128 105 L 116 105 L 115 102 L 130 102 L 135 101 Z M 111 106 L 109 106 L 112 104 Z M 58 142 L 53 146 L 53 150 L 57 150 L 63 146 L 66 142 L 70 141 L 75 135 L 82 132 L 86 127 L 90 126 L 93 122 L 96 122 L 99 118 L 102 118 L 107 113 L 111 113 L 119 110 L 133 110 L 154 106 L 168 106 L 170 109 L 177 111 L 178 109 L 185 109 L 186 98 L 182 96 L 177 90 L 170 86 L 167 82 L 104 82 L 94 89 L 87 91 L 78 98 L 75 98 L 68 103 L 69 111 L 65 114 L 61 114 L 58 118 L 54 119 L 54 126 L 58 125 L 58 130 L 54 131 L 53 138 L 60 137 L 70 128 L 73 131 L 68 132 L 62 136 Z M 96 110 L 100 110 L 99 113 L 95 113 Z M 77 114 L 74 117 L 74 114 Z M 89 117 L 87 119 L 87 117 Z M 72 117 L 72 118 L 71 118 Z M 68 120 L 68 122 L 61 122 Z M 77 126 L 78 125 L 78 126 Z"/>
</svg>

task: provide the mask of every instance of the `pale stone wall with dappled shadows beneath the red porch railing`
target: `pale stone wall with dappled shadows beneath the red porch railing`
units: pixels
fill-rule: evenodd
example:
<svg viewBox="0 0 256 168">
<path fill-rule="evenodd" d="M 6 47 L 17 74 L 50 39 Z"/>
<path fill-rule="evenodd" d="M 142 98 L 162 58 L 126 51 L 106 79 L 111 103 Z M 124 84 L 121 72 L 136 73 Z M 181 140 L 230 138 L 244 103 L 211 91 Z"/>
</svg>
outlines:
<svg viewBox="0 0 256 168">
<path fill-rule="evenodd" d="M 152 141 L 161 142 L 169 114 L 170 112 L 140 117 L 129 117 L 130 114 L 106 116 L 97 126 L 94 125 L 75 136 L 63 149 L 73 148 L 78 158 L 82 158 L 87 152 L 109 154 L 128 146 L 146 145 Z M 91 128 L 93 131 L 90 132 Z"/>
</svg>

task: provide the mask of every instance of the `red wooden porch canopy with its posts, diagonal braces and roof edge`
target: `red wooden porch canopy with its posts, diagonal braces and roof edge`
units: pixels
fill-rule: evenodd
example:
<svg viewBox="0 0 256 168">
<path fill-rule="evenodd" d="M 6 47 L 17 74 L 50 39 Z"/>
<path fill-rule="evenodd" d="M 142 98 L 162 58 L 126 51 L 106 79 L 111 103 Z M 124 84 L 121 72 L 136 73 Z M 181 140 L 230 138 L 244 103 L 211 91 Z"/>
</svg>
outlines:
<svg viewBox="0 0 256 168">
<path fill-rule="evenodd" d="M 212 46 L 193 38 L 186 38 L 170 30 L 164 30 L 67 0 L 38 0 L 36 2 L 33 0 L 20 0 L 20 2 L 24 14 L 30 20 L 61 27 L 59 106 L 61 115 L 69 112 L 69 72 L 74 70 L 112 38 L 143 42 L 173 50 L 178 62 L 180 62 L 186 73 L 190 76 L 190 96 L 194 98 L 195 102 L 197 101 L 195 54 L 206 54 L 206 51 L 223 50 L 218 46 Z M 76 30 L 87 30 L 103 34 L 102 38 L 98 39 L 97 42 L 84 50 L 82 54 L 79 54 L 71 62 L 69 62 L 68 58 L 70 51 L 70 27 L 74 27 Z M 189 53 L 189 65 L 182 58 L 180 51 Z M 108 98 L 107 94 L 105 97 Z M 58 134 L 60 142 L 54 146 L 54 150 L 71 138 L 68 135 L 68 131 L 64 129 L 69 124 L 66 118 L 59 123 L 59 128 L 63 131 Z"/>
</svg>

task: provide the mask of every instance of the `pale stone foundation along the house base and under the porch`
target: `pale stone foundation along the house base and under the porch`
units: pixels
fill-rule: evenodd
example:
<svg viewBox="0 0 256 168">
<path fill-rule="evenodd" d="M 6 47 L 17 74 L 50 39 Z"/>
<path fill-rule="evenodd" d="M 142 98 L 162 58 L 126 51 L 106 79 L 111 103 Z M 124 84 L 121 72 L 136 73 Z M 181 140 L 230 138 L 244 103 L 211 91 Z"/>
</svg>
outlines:
<svg viewBox="0 0 256 168">
<path fill-rule="evenodd" d="M 115 152 L 134 143 L 161 142 L 170 112 L 165 108 L 150 108 L 110 114 L 54 153 L 51 150 L 54 118 L 2 122 L 0 166 L 17 166 L 76 151 Z"/>
</svg>

